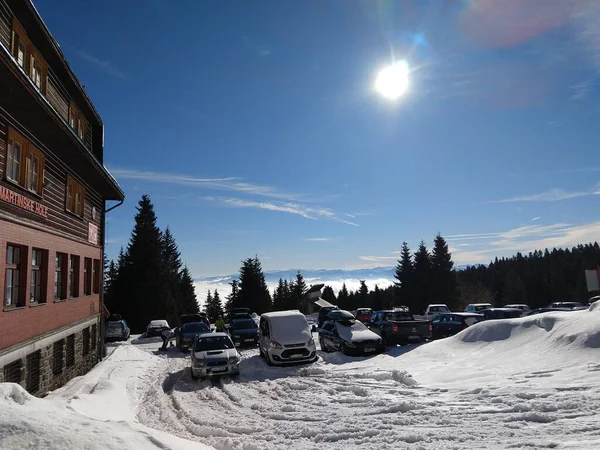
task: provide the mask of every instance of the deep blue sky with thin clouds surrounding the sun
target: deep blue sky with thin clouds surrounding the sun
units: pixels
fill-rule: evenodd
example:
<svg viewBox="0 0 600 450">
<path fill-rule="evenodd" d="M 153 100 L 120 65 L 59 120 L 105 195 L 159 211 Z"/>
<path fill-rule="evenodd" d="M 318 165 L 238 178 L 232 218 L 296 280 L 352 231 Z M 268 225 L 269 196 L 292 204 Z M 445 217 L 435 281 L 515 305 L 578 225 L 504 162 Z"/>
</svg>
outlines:
<svg viewBox="0 0 600 450">
<path fill-rule="evenodd" d="M 127 196 L 110 257 L 143 193 L 195 276 L 393 265 L 437 232 L 460 264 L 600 236 L 595 0 L 35 5 Z"/>
</svg>

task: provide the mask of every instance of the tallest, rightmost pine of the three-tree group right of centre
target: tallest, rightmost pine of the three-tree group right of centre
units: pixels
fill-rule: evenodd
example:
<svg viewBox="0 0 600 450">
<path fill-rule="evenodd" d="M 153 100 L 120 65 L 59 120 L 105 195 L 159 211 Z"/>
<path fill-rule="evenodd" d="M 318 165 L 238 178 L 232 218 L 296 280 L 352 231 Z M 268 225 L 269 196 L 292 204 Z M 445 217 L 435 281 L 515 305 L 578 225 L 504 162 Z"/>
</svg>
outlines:
<svg viewBox="0 0 600 450">
<path fill-rule="evenodd" d="M 458 292 L 454 263 L 448 244 L 439 233 L 433 240 L 431 266 L 431 301 L 445 303 L 451 311 L 455 311 L 458 306 Z"/>
</svg>

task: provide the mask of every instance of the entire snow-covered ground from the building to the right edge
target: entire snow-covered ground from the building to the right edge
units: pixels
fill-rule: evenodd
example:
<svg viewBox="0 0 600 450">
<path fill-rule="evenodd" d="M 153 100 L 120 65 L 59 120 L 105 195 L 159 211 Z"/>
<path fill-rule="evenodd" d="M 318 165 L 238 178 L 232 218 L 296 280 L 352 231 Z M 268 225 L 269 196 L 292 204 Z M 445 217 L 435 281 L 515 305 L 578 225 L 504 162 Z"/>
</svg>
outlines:
<svg viewBox="0 0 600 450">
<path fill-rule="evenodd" d="M 600 302 L 449 339 L 194 382 L 159 340 L 45 399 L 0 384 L 0 448 L 600 449 Z"/>
</svg>

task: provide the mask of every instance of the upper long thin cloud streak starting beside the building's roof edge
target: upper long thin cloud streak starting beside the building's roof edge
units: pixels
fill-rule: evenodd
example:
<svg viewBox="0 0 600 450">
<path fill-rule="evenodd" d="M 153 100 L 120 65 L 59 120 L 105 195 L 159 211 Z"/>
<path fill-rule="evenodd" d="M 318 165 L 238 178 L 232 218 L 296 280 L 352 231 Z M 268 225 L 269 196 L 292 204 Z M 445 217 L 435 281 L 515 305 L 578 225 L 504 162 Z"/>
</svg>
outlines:
<svg viewBox="0 0 600 450">
<path fill-rule="evenodd" d="M 198 188 L 242 192 L 245 194 L 259 195 L 281 200 L 301 200 L 306 197 L 305 194 L 282 192 L 271 186 L 246 183 L 235 177 L 203 178 L 191 175 L 140 171 L 132 169 L 111 169 L 111 173 L 116 178 L 121 180 L 146 180 L 152 181 L 153 183 L 196 186 Z"/>
</svg>

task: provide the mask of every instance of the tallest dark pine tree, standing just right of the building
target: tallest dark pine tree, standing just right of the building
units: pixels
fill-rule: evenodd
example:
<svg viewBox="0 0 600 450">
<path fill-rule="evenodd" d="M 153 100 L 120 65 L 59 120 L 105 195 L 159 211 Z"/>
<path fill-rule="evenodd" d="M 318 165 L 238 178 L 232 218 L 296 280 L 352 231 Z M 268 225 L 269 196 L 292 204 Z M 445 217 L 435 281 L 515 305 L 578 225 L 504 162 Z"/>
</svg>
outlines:
<svg viewBox="0 0 600 450">
<path fill-rule="evenodd" d="M 141 333 L 154 319 L 169 314 L 169 289 L 162 262 L 161 232 L 154 206 L 143 195 L 135 225 L 115 284 L 115 300 L 132 333 Z"/>
</svg>

